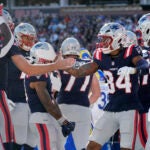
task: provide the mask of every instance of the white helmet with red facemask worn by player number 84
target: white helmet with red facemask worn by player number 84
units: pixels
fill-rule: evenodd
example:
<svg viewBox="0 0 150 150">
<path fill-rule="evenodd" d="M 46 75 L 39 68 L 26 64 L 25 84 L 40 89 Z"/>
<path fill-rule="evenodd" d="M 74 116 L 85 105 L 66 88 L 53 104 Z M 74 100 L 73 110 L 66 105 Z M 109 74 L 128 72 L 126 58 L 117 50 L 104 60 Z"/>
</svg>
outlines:
<svg viewBox="0 0 150 150">
<path fill-rule="evenodd" d="M 109 54 L 124 45 L 125 39 L 126 30 L 121 24 L 114 22 L 106 23 L 98 33 L 98 48 L 104 54 Z"/>
</svg>

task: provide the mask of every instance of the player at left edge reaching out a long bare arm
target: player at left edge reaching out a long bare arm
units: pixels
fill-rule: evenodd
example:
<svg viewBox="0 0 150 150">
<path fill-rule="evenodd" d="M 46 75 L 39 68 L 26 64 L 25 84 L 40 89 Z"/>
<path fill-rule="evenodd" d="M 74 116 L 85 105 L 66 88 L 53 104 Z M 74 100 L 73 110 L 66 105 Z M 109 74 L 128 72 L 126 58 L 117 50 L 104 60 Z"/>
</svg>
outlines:
<svg viewBox="0 0 150 150">
<path fill-rule="evenodd" d="M 75 60 L 72 58 L 63 60 L 60 56 L 55 63 L 45 65 L 32 65 L 20 53 L 14 44 L 14 36 L 2 16 L 3 5 L 0 5 L 0 132 L 4 147 L 11 149 L 10 142 L 15 140 L 13 125 L 5 93 L 8 82 L 8 60 L 12 59 L 15 65 L 29 75 L 37 75 L 56 69 L 71 67 Z"/>
</svg>

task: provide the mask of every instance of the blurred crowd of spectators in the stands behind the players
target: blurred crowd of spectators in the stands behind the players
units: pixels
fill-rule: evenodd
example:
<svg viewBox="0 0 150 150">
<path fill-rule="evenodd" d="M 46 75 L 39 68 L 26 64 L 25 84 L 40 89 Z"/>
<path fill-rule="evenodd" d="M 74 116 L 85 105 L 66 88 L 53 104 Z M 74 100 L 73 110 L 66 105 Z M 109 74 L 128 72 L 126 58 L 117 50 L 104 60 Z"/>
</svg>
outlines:
<svg viewBox="0 0 150 150">
<path fill-rule="evenodd" d="M 127 30 L 135 31 L 140 15 L 83 15 L 83 16 L 60 16 L 40 12 L 36 16 L 23 16 L 13 18 L 15 24 L 28 22 L 36 27 L 39 41 L 50 42 L 56 51 L 60 48 L 60 43 L 69 36 L 74 36 L 80 41 L 82 47 L 91 52 L 95 49 L 97 33 L 106 22 L 118 22 L 125 26 Z"/>
</svg>

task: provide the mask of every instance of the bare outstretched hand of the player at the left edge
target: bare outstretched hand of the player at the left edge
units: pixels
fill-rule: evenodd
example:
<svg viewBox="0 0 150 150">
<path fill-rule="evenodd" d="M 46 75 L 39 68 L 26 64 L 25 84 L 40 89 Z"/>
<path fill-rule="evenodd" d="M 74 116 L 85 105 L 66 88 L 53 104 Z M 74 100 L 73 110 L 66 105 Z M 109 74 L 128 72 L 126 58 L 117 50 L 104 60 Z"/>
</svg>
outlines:
<svg viewBox="0 0 150 150">
<path fill-rule="evenodd" d="M 63 59 L 61 54 L 58 55 L 58 58 L 56 60 L 56 64 L 60 70 L 71 68 L 74 65 L 74 63 L 74 58 Z"/>
</svg>

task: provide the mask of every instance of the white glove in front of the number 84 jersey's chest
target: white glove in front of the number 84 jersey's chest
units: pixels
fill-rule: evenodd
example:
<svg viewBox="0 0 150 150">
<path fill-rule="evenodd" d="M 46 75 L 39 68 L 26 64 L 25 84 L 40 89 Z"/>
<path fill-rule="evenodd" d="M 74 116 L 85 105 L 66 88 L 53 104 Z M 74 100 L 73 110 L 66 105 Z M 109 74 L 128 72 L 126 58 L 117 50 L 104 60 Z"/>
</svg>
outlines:
<svg viewBox="0 0 150 150">
<path fill-rule="evenodd" d="M 121 67 L 119 68 L 117 75 L 128 75 L 128 74 L 135 74 L 136 73 L 136 69 L 133 67 Z"/>
</svg>

